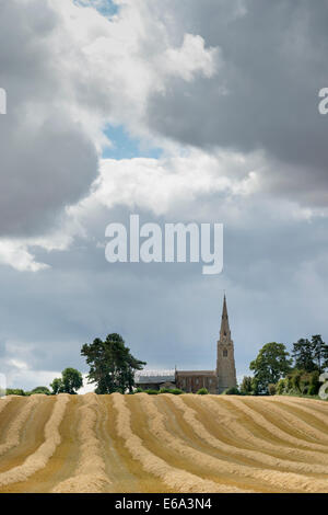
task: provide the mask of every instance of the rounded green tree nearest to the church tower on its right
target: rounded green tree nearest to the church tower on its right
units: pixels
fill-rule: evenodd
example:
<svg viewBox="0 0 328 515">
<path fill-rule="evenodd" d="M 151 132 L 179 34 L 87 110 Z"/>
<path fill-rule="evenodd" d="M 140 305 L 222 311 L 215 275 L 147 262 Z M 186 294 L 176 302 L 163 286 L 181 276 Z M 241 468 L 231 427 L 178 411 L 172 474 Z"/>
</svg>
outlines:
<svg viewBox="0 0 328 515">
<path fill-rule="evenodd" d="M 249 368 L 254 370 L 253 388 L 255 393 L 267 394 L 268 386 L 279 381 L 291 370 L 292 359 L 289 358 L 283 343 L 267 343 L 262 346 Z"/>
</svg>

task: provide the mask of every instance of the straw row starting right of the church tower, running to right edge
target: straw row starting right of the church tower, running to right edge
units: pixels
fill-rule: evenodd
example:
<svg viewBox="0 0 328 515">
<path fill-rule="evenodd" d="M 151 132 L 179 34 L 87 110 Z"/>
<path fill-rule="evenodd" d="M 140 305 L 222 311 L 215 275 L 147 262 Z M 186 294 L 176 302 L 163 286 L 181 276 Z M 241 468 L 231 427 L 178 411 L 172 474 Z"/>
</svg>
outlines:
<svg viewBox="0 0 328 515">
<path fill-rule="evenodd" d="M 311 438 L 316 442 L 321 442 L 323 450 L 328 453 L 328 435 L 324 432 L 317 430 L 313 425 L 300 419 L 300 416 L 293 414 L 291 411 L 286 412 L 283 408 L 279 405 L 278 402 L 268 402 L 265 399 L 259 399 L 257 402 L 257 408 L 263 410 L 267 413 L 270 412 L 272 415 L 276 414 L 277 417 L 283 421 L 285 424 L 291 426 L 293 431 L 298 431 L 303 433 L 307 438 Z"/>
</svg>

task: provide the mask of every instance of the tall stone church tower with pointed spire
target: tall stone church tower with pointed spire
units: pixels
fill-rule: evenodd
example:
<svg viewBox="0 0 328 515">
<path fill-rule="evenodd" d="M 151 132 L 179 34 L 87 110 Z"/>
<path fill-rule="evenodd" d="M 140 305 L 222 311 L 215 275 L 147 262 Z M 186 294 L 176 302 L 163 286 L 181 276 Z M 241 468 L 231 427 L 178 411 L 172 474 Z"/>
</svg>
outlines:
<svg viewBox="0 0 328 515">
<path fill-rule="evenodd" d="M 218 393 L 237 386 L 234 342 L 231 339 L 225 295 L 221 319 L 220 340 L 216 356 Z"/>
</svg>

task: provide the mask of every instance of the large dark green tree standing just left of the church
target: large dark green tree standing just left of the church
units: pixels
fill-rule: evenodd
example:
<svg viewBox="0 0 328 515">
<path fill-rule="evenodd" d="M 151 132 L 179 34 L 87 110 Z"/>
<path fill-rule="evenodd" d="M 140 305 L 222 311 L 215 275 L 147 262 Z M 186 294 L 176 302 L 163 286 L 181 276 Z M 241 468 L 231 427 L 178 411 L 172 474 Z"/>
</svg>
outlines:
<svg viewBox="0 0 328 515">
<path fill-rule="evenodd" d="M 96 393 L 125 393 L 127 389 L 132 392 L 134 370 L 141 370 L 145 365 L 131 355 L 117 333 L 108 334 L 104 342 L 97 337 L 92 344 L 85 343 L 81 355 L 90 366 L 87 378 L 89 382 L 96 384 Z"/>
</svg>

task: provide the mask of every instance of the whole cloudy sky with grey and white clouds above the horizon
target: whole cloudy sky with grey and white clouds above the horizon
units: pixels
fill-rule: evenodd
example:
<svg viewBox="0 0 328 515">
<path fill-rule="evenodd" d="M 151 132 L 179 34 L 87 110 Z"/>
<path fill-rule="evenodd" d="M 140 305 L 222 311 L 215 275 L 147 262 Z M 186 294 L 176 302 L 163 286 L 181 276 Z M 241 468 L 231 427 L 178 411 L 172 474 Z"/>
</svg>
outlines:
<svg viewBox="0 0 328 515">
<path fill-rule="evenodd" d="M 328 339 L 328 1 L 0 0 L 0 373 L 87 373 L 117 332 L 148 368 L 237 376 Z M 116 263 L 109 222 L 223 224 L 224 267 Z"/>
</svg>

